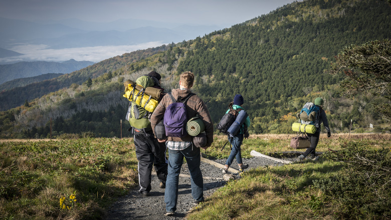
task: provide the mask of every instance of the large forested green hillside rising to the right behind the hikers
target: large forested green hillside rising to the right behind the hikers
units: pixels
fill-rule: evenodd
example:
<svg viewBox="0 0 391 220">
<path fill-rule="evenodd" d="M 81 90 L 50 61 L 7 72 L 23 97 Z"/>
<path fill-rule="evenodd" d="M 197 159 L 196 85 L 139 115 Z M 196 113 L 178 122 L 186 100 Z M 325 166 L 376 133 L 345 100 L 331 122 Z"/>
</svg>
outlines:
<svg viewBox="0 0 391 220">
<path fill-rule="evenodd" d="M 318 96 L 325 100 L 333 132 L 347 131 L 350 120 L 353 129 L 367 129 L 369 123 L 384 127 L 372 103 L 384 100 L 371 93 L 347 99 L 338 93 L 343 76 L 326 72 L 345 46 L 390 38 L 390 15 L 385 1 L 297 2 L 134 62 L 108 59 L 58 77 L 75 83 L 69 88 L 2 112 L 1 137 L 48 137 L 50 119 L 54 135 L 119 137 L 122 120 L 122 136 L 128 136 L 122 83 L 151 70 L 162 74 L 166 89 L 177 87 L 179 73 L 192 71 L 193 91 L 204 99 L 214 122 L 241 93 L 251 133 L 290 133 L 292 115 Z M 106 62 L 118 68 L 105 68 Z"/>
</svg>

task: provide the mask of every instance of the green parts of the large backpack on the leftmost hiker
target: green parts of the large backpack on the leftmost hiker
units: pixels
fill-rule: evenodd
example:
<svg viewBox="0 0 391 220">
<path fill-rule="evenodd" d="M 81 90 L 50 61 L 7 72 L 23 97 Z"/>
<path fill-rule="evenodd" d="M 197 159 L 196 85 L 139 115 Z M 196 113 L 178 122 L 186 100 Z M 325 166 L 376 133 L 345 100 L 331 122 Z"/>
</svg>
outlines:
<svg viewBox="0 0 391 220">
<path fill-rule="evenodd" d="M 140 76 L 136 80 L 136 84 L 146 88 L 153 86 L 154 82 L 149 76 Z M 134 101 L 129 102 L 128 112 L 126 114 L 126 120 L 129 121 L 130 126 L 139 131 L 150 131 L 152 130 L 151 123 L 149 121 L 151 114 L 146 111 L 143 107 L 138 105 Z M 129 129 L 129 131 L 131 128 Z"/>
</svg>

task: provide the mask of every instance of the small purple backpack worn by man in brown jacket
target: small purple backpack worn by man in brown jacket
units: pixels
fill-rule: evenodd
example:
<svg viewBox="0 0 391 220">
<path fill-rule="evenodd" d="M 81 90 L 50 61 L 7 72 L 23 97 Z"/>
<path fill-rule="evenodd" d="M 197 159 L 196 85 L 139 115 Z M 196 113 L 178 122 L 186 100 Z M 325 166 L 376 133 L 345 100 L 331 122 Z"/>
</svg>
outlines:
<svg viewBox="0 0 391 220">
<path fill-rule="evenodd" d="M 187 135 L 186 132 L 186 123 L 187 123 L 187 113 L 185 102 L 189 99 L 194 93 L 190 93 L 186 98 L 178 97 L 177 100 L 174 99 L 171 92 L 168 93 L 171 97 L 173 103 L 168 105 L 164 112 L 164 127 L 165 135 L 167 137 L 184 137 Z"/>
</svg>

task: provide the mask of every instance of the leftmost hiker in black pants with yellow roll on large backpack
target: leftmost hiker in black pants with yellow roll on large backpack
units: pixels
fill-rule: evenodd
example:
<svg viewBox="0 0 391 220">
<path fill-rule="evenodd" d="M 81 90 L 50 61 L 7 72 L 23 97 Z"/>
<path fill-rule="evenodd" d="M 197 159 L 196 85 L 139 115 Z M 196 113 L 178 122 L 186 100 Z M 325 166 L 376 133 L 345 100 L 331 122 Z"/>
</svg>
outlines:
<svg viewBox="0 0 391 220">
<path fill-rule="evenodd" d="M 167 162 L 165 144 L 158 143 L 152 132 L 150 117 L 161 97 L 164 95 L 160 87 L 160 74 L 155 71 L 140 76 L 133 81 L 126 81 L 125 94 L 129 99 L 126 120 L 129 121 L 133 142 L 138 160 L 138 184 L 140 193 L 149 196 L 151 190 L 152 166 L 160 181 L 159 187 L 165 188 L 167 179 Z"/>
</svg>

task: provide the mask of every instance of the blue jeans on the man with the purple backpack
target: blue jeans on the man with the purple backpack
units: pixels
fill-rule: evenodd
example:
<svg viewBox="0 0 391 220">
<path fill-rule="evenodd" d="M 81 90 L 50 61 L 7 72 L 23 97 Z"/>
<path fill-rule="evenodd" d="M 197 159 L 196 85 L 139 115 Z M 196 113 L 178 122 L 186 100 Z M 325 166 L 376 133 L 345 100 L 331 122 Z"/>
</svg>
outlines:
<svg viewBox="0 0 391 220">
<path fill-rule="evenodd" d="M 164 202 L 166 211 L 174 212 L 178 200 L 179 173 L 183 157 L 186 159 L 190 171 L 191 195 L 197 201 L 204 200 L 204 180 L 201 173 L 200 148 L 191 145 L 184 150 L 168 149 L 168 174 L 165 182 Z"/>
</svg>

